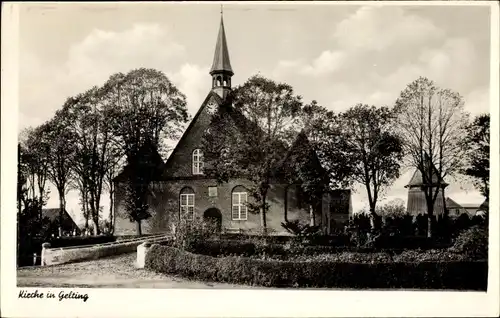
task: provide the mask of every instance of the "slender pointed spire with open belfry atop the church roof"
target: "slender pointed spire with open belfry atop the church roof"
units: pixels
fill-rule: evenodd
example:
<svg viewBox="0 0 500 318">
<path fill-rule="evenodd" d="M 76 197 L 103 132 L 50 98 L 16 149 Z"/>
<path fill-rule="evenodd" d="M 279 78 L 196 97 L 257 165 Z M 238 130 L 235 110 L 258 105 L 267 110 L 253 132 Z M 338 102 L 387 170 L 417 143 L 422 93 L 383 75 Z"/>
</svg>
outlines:
<svg viewBox="0 0 500 318">
<path fill-rule="evenodd" d="M 231 62 L 229 61 L 229 52 L 227 49 L 226 32 L 224 31 L 224 19 L 221 7 L 219 35 L 217 36 L 214 61 L 212 63 L 212 68 L 210 69 L 210 75 L 212 76 L 212 90 L 222 99 L 225 99 L 227 94 L 231 91 L 231 77 L 233 74 Z"/>
</svg>

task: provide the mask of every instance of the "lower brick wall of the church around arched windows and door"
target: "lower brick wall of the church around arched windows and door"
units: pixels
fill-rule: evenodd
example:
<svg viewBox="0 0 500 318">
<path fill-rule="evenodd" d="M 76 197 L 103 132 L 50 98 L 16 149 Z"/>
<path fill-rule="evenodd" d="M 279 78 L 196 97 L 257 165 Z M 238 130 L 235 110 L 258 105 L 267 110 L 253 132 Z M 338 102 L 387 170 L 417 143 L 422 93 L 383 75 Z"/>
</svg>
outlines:
<svg viewBox="0 0 500 318">
<path fill-rule="evenodd" d="M 190 187 L 195 193 L 195 216 L 203 217 L 204 212 L 209 208 L 217 208 L 222 214 L 222 227 L 229 229 L 258 230 L 261 225 L 260 214 L 248 213 L 245 221 L 232 220 L 232 191 L 236 186 L 247 186 L 246 180 L 235 179 L 228 183 L 217 185 L 214 180 L 176 180 L 166 181 L 153 185 L 150 197 L 150 210 L 152 217 L 142 223 L 144 234 L 158 233 L 171 230 L 172 223 L 176 223 L 179 218 L 180 192 L 184 187 Z M 217 197 L 210 197 L 208 187 L 217 187 Z M 288 187 L 287 199 L 285 199 L 285 185 L 275 184 L 271 186 L 268 194 L 269 211 L 266 216 L 267 227 L 276 232 L 283 232 L 281 222 L 285 221 L 285 216 L 289 221 L 301 220 L 309 223 L 310 217 L 307 206 L 297 202 L 296 189 Z M 117 185 L 115 197 L 115 234 L 134 234 L 135 223 L 128 220 L 123 206 L 123 186 Z M 248 200 L 252 200 L 249 196 Z M 322 211 L 315 211 L 316 223 L 322 222 Z"/>
</svg>

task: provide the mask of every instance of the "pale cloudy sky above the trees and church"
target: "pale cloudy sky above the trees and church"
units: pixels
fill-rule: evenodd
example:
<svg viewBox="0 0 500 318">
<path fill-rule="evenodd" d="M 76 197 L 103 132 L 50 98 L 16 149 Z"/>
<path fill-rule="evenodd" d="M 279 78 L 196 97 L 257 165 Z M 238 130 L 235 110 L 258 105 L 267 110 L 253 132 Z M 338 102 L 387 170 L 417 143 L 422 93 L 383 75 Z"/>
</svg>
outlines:
<svg viewBox="0 0 500 318">
<path fill-rule="evenodd" d="M 163 71 L 187 96 L 191 115 L 210 91 L 217 3 L 20 7 L 19 131 L 134 68 Z M 339 112 L 356 103 L 392 106 L 419 76 L 459 92 L 473 116 L 489 112 L 489 21 L 489 7 L 480 6 L 224 4 L 233 86 L 260 73 Z M 406 201 L 412 173 L 404 170 L 381 203 Z M 471 184 L 447 181 L 455 201 L 483 201 Z M 52 193 L 48 207 L 57 207 Z M 363 188 L 354 188 L 352 201 L 354 211 L 366 206 Z M 77 216 L 77 193 L 67 202 Z M 103 204 L 107 210 L 106 195 Z"/>
</svg>

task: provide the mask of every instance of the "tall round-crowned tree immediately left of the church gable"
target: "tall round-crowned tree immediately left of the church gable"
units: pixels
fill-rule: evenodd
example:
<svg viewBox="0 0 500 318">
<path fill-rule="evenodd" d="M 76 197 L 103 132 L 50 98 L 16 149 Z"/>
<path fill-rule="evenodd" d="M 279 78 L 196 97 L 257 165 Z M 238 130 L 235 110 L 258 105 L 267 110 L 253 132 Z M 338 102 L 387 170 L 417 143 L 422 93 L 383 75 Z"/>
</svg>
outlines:
<svg viewBox="0 0 500 318">
<path fill-rule="evenodd" d="M 157 177 L 151 155 L 161 151 L 164 140 L 176 137 L 187 122 L 186 97 L 162 72 L 144 68 L 114 74 L 102 89 L 113 134 L 129 168 L 125 207 L 140 235 L 141 221 L 151 216 L 147 198 Z"/>
</svg>

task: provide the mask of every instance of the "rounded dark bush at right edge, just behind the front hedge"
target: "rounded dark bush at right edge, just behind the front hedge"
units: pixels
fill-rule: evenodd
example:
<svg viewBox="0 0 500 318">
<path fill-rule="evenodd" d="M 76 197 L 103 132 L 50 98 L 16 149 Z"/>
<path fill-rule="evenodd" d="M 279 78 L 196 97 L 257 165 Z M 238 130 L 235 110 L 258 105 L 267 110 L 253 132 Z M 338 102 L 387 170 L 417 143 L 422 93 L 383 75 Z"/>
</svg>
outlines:
<svg viewBox="0 0 500 318">
<path fill-rule="evenodd" d="M 488 229 L 475 226 L 462 231 L 449 250 L 470 258 L 488 259 Z"/>
</svg>

